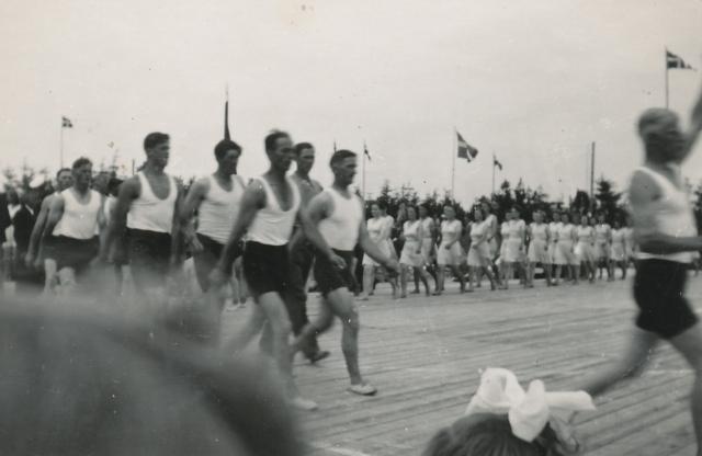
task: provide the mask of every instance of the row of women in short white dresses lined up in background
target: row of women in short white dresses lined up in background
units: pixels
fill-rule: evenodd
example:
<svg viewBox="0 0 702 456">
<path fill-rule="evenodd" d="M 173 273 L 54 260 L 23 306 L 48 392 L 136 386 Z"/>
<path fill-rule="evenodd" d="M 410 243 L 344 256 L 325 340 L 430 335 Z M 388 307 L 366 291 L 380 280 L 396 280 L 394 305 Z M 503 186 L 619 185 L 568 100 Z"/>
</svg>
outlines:
<svg viewBox="0 0 702 456">
<path fill-rule="evenodd" d="M 414 294 L 419 282 L 427 295 L 432 294 L 430 278 L 435 287 L 433 295 L 444 292 L 446 272 L 461 284 L 461 293 L 473 292 L 480 286 L 483 276 L 491 289 L 508 289 L 516 276 L 524 287 L 534 286 L 536 267 L 541 266 L 547 286 L 566 281 L 578 284 L 581 278 L 593 283 L 607 272 L 608 281 L 614 281 L 615 269 L 626 278 L 636 249 L 633 229 L 627 221 L 605 221 L 605 215 L 596 216 L 552 209 L 551 220 L 543 210 L 532 214 L 526 224 L 517 207 L 512 207 L 500 224 L 496 216 L 497 204 L 482 203 L 466 216 L 465 223 L 456 218 L 452 206 L 443 208 L 442 219 L 432 218 L 428 208 L 406 208 L 406 221 L 395 224 L 383 203 L 373 203 L 372 217 L 367 220 L 371 239 L 384 252 L 399 256 L 403 265 L 399 284 L 387 276 L 382 266 L 371 258 L 363 259 L 363 294 L 373 294 L 376 280 L 387 278 L 394 296 L 407 297 L 407 286 L 415 281 Z M 396 249 L 393 228 L 397 227 L 401 247 Z"/>
</svg>

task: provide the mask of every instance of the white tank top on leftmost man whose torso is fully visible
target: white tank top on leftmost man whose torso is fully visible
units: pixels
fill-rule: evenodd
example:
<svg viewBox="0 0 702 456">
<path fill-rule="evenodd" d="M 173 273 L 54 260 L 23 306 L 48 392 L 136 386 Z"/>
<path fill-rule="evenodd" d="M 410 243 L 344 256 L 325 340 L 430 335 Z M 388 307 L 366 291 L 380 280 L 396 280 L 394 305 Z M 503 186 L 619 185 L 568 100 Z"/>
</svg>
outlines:
<svg viewBox="0 0 702 456">
<path fill-rule="evenodd" d="M 81 204 L 72 189 L 61 192 L 64 215 L 54 227 L 54 236 L 66 236 L 73 239 L 92 239 L 98 232 L 98 214 L 102 196 L 94 190 L 89 191 L 90 201 Z"/>
</svg>

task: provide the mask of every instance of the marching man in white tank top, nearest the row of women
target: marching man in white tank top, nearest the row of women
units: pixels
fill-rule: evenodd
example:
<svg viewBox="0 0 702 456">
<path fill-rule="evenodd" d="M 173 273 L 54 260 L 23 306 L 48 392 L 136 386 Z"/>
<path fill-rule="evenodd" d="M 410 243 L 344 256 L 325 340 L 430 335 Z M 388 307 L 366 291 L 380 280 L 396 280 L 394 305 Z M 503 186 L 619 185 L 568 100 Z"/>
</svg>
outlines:
<svg viewBox="0 0 702 456">
<path fill-rule="evenodd" d="M 315 261 L 315 278 L 324 296 L 319 317 L 302 331 L 293 344 L 299 350 L 307 338 L 319 334 L 331 327 L 333 316 L 343 324 L 341 347 L 351 378 L 351 392 L 372 396 L 376 389 L 363 381 L 359 368 L 359 314 L 349 290 L 353 285 L 353 248 L 356 242 L 375 261 L 397 273 L 397 260 L 383 254 L 371 241 L 365 228 L 363 202 L 349 186 L 356 173 L 356 155 L 350 150 L 338 150 L 331 157 L 333 185 L 313 198 L 307 209 L 309 219 L 319 228 L 325 241 L 337 255 L 343 258 L 346 266 L 338 267 L 329 258 L 318 254 Z"/>
</svg>

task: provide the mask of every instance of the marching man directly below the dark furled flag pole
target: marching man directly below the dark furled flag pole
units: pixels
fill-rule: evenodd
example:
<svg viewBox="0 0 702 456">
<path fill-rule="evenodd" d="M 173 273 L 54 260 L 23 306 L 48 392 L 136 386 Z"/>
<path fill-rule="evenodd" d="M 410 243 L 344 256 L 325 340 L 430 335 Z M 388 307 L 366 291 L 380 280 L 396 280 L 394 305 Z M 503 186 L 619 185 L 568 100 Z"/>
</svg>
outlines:
<svg viewBox="0 0 702 456">
<path fill-rule="evenodd" d="M 210 273 L 229 239 L 246 187 L 244 179 L 237 175 L 241 147 L 233 140 L 223 139 L 214 150 L 217 170 L 191 185 L 180 215 L 185 242 L 193 252 L 197 283 L 203 292 L 210 289 Z M 195 213 L 196 227 L 193 225 Z M 238 254 L 241 251 L 239 249 Z"/>
</svg>

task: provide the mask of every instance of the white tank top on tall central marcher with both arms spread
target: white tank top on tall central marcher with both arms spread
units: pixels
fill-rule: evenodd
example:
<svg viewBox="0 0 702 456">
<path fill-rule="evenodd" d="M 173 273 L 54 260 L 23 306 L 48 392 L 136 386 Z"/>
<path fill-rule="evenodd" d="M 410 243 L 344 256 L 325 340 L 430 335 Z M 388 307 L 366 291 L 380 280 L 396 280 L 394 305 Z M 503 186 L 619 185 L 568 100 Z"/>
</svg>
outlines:
<svg viewBox="0 0 702 456">
<path fill-rule="evenodd" d="M 265 192 L 265 207 L 256 213 L 253 223 L 249 227 L 247 239 L 267 246 L 285 246 L 293 233 L 293 225 L 297 219 L 299 209 L 299 190 L 297 184 L 290 178 L 285 178 L 287 185 L 292 190 L 293 204 L 290 209 L 283 212 L 273 189 L 265 178 L 257 179 L 263 185 Z"/>
</svg>

